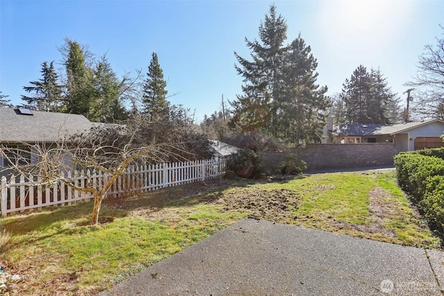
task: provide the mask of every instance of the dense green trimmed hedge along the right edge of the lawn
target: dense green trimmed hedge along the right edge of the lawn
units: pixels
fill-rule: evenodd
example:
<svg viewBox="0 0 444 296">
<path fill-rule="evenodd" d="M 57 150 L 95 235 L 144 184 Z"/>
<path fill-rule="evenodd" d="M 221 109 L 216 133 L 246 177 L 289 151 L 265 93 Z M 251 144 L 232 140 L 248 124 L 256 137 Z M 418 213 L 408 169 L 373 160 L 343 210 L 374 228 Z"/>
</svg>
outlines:
<svg viewBox="0 0 444 296">
<path fill-rule="evenodd" d="M 395 156 L 398 184 L 418 202 L 427 219 L 444 231 L 444 149 Z"/>
</svg>

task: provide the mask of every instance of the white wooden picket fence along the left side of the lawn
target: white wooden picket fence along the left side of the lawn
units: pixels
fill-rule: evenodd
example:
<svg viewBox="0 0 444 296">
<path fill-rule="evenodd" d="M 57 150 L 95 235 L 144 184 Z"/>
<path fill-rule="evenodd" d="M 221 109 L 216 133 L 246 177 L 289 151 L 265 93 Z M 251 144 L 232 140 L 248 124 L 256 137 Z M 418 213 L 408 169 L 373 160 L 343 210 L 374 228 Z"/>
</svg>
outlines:
<svg viewBox="0 0 444 296">
<path fill-rule="evenodd" d="M 130 166 L 120 175 L 108 191 L 107 198 L 119 198 L 123 195 L 137 194 L 168 186 L 205 181 L 219 177 L 225 173 L 225 159 L 207 159 L 194 162 L 174 162 L 148 166 Z M 75 184 L 81 188 L 87 182 L 100 188 L 108 175 L 86 171 L 75 173 Z M 67 172 L 71 179 L 71 172 Z M 33 182 L 25 182 L 33 180 Z M 73 202 L 93 198 L 92 194 L 71 189 L 58 181 L 51 186 L 42 185 L 37 177 L 32 175 L 12 175 L 1 177 L 0 211 L 1 216 L 56 205 L 71 205 Z M 40 185 L 39 185 L 40 184 Z"/>
</svg>

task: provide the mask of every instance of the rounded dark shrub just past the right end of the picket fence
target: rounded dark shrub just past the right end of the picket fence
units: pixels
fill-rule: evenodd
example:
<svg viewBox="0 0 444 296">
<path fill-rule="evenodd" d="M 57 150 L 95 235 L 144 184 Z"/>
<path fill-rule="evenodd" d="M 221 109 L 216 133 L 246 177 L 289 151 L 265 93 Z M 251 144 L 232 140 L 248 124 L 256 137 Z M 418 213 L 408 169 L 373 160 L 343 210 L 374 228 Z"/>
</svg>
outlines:
<svg viewBox="0 0 444 296">
<path fill-rule="evenodd" d="M 227 161 L 227 169 L 234 171 L 239 177 L 257 177 L 262 173 L 259 155 L 250 149 L 240 149 Z"/>
</svg>

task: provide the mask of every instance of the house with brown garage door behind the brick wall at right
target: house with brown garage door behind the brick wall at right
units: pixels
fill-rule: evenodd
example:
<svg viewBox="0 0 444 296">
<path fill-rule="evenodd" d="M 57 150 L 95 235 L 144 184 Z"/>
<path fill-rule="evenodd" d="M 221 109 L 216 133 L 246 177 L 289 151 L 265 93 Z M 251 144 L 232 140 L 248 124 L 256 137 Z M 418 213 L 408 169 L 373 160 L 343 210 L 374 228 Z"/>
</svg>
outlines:
<svg viewBox="0 0 444 296">
<path fill-rule="evenodd" d="M 343 124 L 327 127 L 324 143 L 394 143 L 398 151 L 444 146 L 444 121 L 434 119 L 393 125 Z"/>
</svg>

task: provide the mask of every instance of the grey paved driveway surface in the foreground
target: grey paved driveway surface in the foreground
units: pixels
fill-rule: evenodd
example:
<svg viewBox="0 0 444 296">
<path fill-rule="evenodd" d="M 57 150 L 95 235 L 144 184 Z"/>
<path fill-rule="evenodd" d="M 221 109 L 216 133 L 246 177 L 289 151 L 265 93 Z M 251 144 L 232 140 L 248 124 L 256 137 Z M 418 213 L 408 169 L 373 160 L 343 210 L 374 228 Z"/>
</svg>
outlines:
<svg viewBox="0 0 444 296">
<path fill-rule="evenodd" d="M 241 220 L 109 295 L 443 295 L 444 252 Z"/>
</svg>

